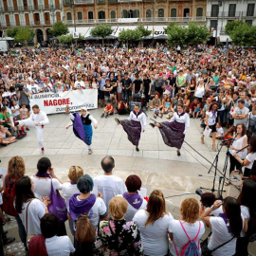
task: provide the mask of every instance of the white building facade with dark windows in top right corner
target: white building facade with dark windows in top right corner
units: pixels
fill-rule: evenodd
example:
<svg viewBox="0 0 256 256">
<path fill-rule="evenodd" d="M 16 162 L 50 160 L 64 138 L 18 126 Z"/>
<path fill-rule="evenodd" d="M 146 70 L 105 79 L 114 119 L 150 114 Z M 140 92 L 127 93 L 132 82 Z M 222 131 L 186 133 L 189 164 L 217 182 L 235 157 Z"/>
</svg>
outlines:
<svg viewBox="0 0 256 256">
<path fill-rule="evenodd" d="M 249 25 L 256 25 L 255 0 L 208 0 L 207 24 L 215 32 L 220 42 L 226 42 L 229 36 L 225 33 L 227 23 L 244 20 Z"/>
</svg>

